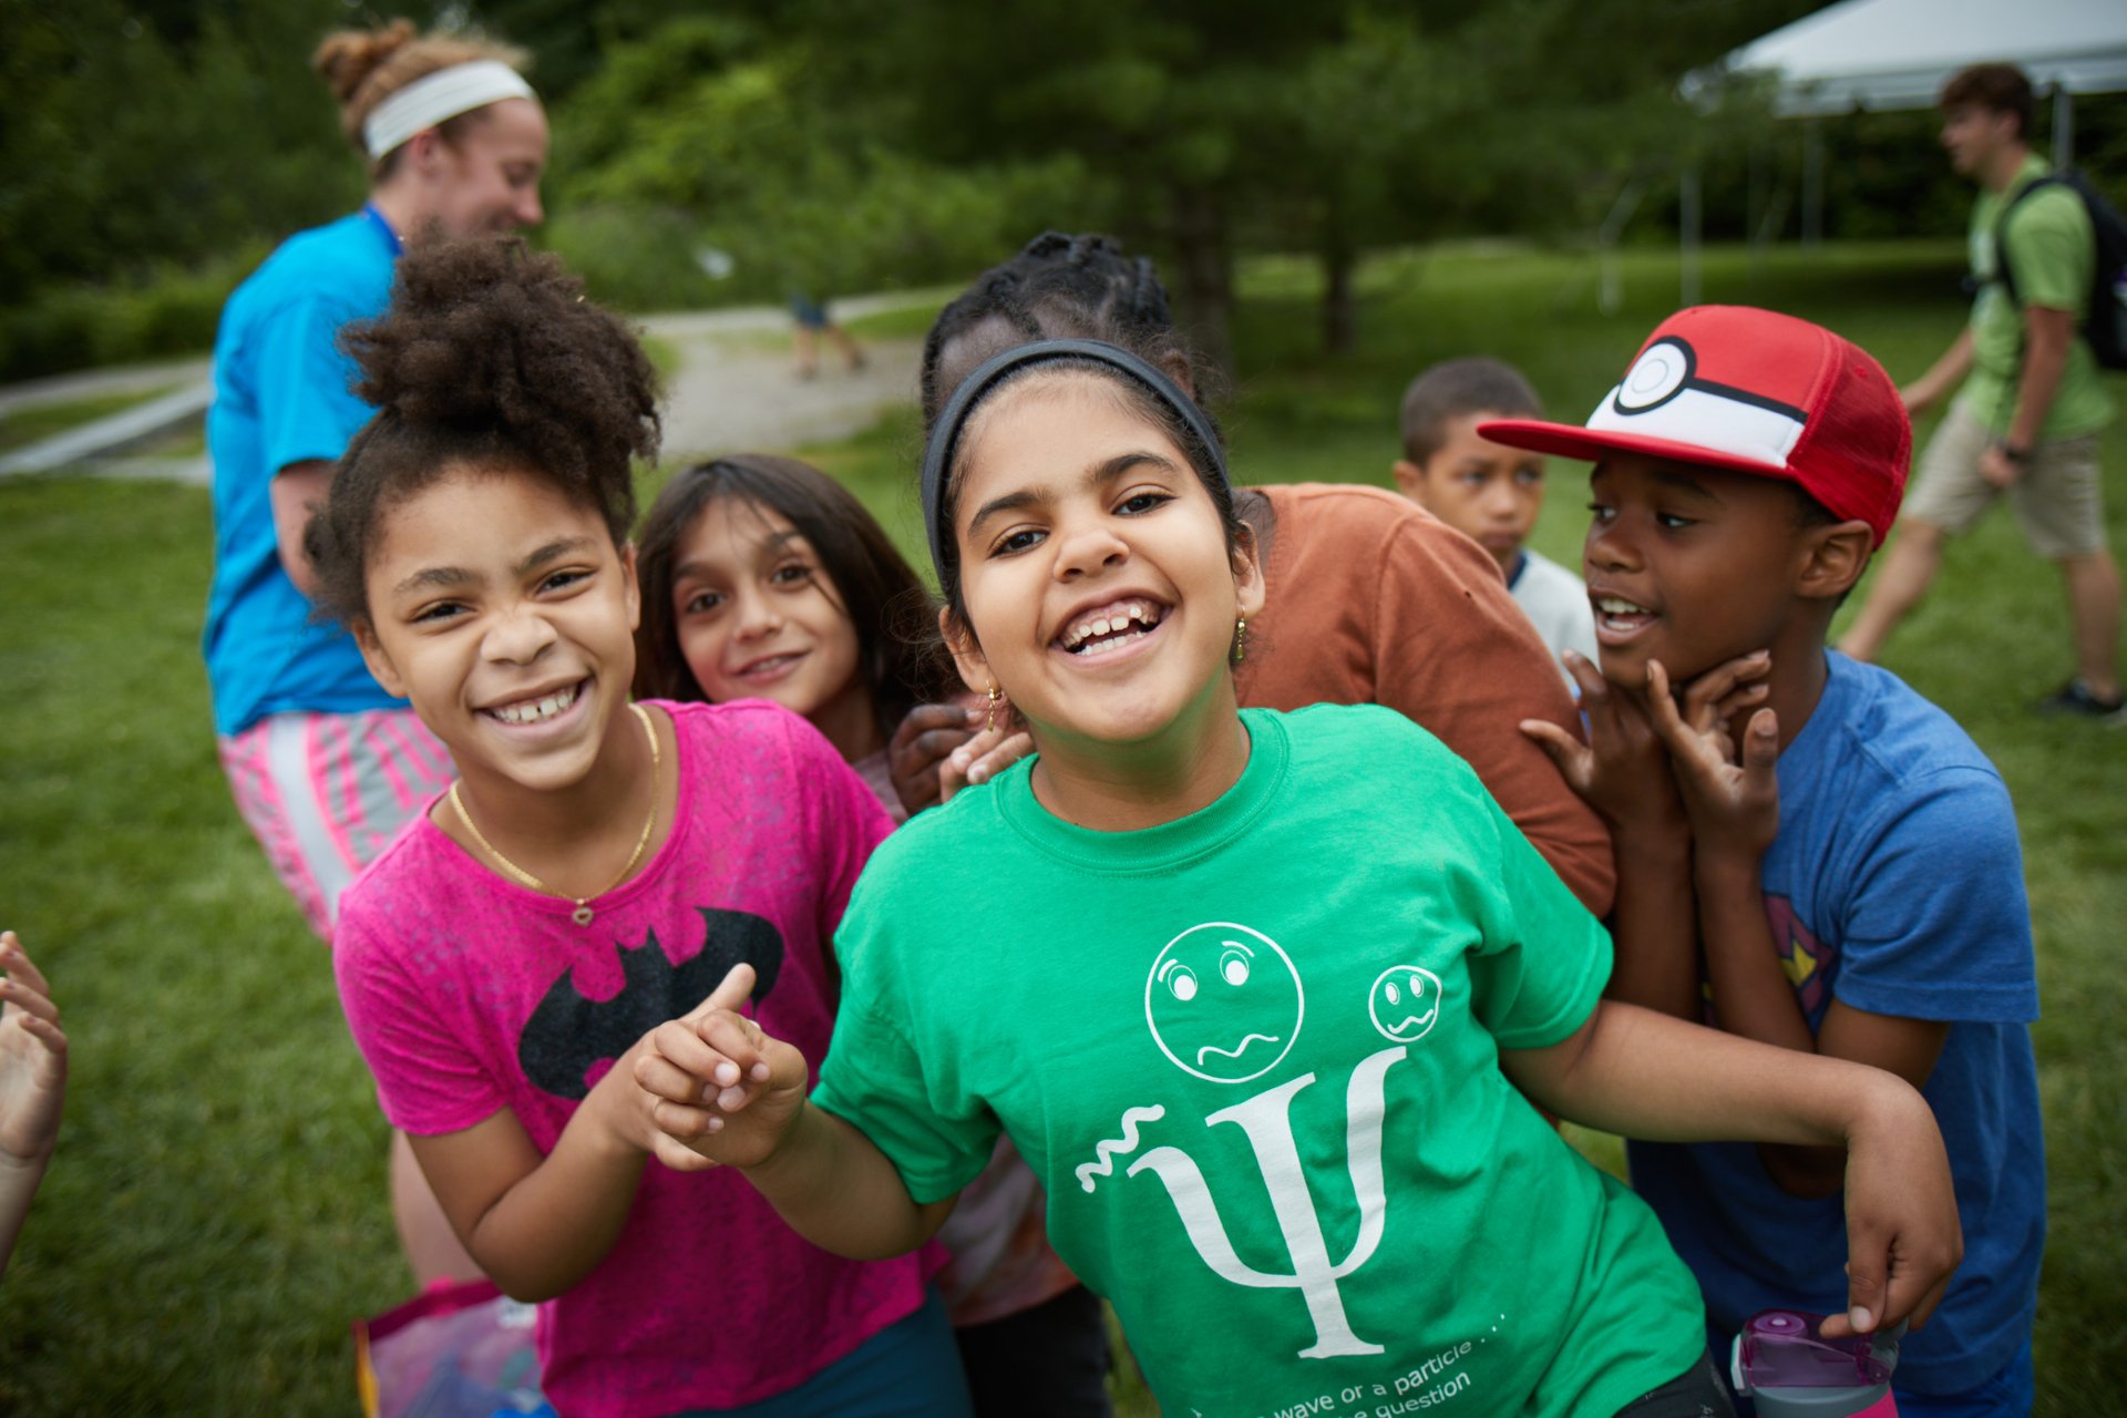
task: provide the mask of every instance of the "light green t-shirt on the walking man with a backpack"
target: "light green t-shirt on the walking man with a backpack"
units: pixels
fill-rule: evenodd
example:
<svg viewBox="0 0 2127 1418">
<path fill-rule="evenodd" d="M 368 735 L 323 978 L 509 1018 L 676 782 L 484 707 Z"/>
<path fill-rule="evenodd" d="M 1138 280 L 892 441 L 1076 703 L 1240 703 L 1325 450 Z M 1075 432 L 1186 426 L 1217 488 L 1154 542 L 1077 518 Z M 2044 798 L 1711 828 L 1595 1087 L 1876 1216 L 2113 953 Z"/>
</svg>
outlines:
<svg viewBox="0 0 2127 1418">
<path fill-rule="evenodd" d="M 1980 293 L 1972 302 L 1972 376 L 1957 391 L 1957 402 L 1991 432 L 2008 434 L 2016 417 L 2016 378 L 2023 372 L 2023 310 L 2008 298 L 2008 287 L 1995 278 L 1995 227 L 2002 206 L 2033 179 L 2053 168 L 2031 153 L 2023 159 L 2006 191 L 1980 189 L 1972 204 L 1972 274 Z M 2067 187 L 2048 187 L 2031 196 L 2008 219 L 2006 232 L 2010 270 L 2016 272 L 2016 300 L 2027 306 L 2067 310 L 2082 325 L 2091 304 L 2091 278 L 2097 264 L 2097 234 L 2082 198 Z M 2112 421 L 2112 398 L 2091 357 L 2091 347 L 2076 338 L 2067 349 L 2061 387 L 2046 410 L 2040 438 L 2078 438 Z"/>
</svg>

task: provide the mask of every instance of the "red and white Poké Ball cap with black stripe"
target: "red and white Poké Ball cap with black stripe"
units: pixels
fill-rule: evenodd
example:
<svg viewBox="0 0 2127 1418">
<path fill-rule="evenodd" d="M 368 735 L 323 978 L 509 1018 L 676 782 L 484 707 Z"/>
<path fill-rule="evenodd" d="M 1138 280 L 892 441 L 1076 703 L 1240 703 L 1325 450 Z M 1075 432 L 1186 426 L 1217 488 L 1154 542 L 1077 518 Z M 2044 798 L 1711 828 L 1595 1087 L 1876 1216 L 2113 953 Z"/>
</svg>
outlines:
<svg viewBox="0 0 2127 1418">
<path fill-rule="evenodd" d="M 1906 495 L 1912 421 L 1859 344 L 1751 306 L 1693 306 L 1655 327 L 1585 427 L 1497 419 L 1478 436 L 1534 453 L 1608 453 L 1787 478 L 1882 544 Z"/>
</svg>

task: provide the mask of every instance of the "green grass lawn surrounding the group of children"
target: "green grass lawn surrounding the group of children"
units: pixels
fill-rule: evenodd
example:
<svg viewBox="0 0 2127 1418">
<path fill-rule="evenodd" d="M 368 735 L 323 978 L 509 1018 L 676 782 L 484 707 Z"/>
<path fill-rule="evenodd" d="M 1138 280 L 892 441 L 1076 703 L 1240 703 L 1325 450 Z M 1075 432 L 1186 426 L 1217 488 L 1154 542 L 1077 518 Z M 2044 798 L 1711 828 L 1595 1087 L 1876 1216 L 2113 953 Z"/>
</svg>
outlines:
<svg viewBox="0 0 2127 1418">
<path fill-rule="evenodd" d="M 1846 247 L 1778 253 L 1753 276 L 1740 253 L 1712 253 L 1706 296 L 1825 321 L 1910 378 L 1957 332 L 1957 266 L 1955 244 Z M 1629 255 L 1625 276 L 1625 310 L 1602 317 L 1585 259 L 1385 257 L 1363 272 L 1361 351 L 1325 361 L 1310 270 L 1251 266 L 1223 410 L 1236 470 L 1385 485 L 1404 383 L 1461 353 L 1519 364 L 1578 419 L 1674 304 L 1672 257 Z M 919 553 L 910 412 L 810 455 Z M 2127 429 L 2108 434 L 2106 466 L 2127 546 Z M 1555 463 L 1536 544 L 1576 563 L 1582 527 L 1580 472 Z M 325 950 L 215 763 L 196 648 L 211 544 L 200 489 L 0 483 L 0 923 L 51 976 L 74 1048 L 60 1157 L 0 1282 L 6 1414 L 351 1414 L 349 1320 L 408 1286 L 385 1129 Z M 1887 663 L 1978 738 L 2016 797 L 2046 999 L 2038 1412 L 2112 1412 L 2127 1365 L 2127 974 L 2110 957 L 2127 921 L 2127 733 L 2025 710 L 2065 676 L 2065 629 L 2053 574 L 2006 517 L 1953 546 Z M 1134 1386 L 1125 1412 L 1151 1412 Z"/>
</svg>

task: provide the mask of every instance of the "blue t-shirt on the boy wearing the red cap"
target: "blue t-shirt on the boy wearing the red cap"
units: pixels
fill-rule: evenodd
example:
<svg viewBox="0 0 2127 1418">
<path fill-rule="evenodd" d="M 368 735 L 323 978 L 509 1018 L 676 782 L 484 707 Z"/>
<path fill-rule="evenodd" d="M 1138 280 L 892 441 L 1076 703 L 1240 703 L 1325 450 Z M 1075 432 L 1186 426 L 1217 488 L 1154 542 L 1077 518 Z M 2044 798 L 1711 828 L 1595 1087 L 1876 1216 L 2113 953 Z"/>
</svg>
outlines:
<svg viewBox="0 0 2127 1418">
<path fill-rule="evenodd" d="M 1904 1341 L 1897 1388 L 1965 1392 L 2029 1339 L 2046 1242 L 2016 814 L 1948 714 L 1838 653 L 1778 772 L 1765 914 L 1810 1029 L 1833 999 L 1950 1023 L 1921 1093 L 1948 1146 L 1965 1259 Z M 1840 1195 L 1780 1191 L 1751 1144 L 1631 1144 L 1631 1180 L 1697 1273 L 1716 1331 L 1776 1305 L 1846 1307 Z"/>
</svg>

